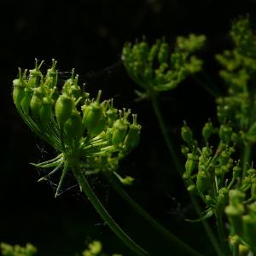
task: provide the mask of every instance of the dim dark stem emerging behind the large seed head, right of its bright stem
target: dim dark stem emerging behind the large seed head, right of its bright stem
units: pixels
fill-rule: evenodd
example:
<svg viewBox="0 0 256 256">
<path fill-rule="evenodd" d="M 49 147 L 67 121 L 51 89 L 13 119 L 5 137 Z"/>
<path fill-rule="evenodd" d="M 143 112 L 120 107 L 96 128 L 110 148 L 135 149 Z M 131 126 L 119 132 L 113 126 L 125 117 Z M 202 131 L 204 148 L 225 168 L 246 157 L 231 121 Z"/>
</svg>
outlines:
<svg viewBox="0 0 256 256">
<path fill-rule="evenodd" d="M 193 256 L 200 256 L 201 253 L 196 252 L 193 248 L 189 247 L 186 243 L 181 241 L 177 238 L 177 236 L 174 236 L 169 230 L 166 230 L 165 227 L 163 227 L 161 224 L 159 224 L 154 218 L 152 218 L 148 212 L 146 212 L 142 207 L 140 207 L 136 201 L 134 201 L 130 195 L 128 195 L 125 190 L 120 186 L 119 182 L 116 180 L 115 177 L 112 177 L 111 174 L 107 175 L 109 182 L 113 186 L 113 189 L 115 189 L 119 195 L 127 201 L 127 203 L 139 214 L 141 215 L 146 221 L 148 221 L 149 224 L 154 227 L 155 230 L 157 230 L 160 234 L 163 236 L 166 236 L 167 239 L 173 242 L 173 245 L 179 247 L 181 250 L 183 250 L 184 253 L 189 253 L 189 255 Z"/>
</svg>

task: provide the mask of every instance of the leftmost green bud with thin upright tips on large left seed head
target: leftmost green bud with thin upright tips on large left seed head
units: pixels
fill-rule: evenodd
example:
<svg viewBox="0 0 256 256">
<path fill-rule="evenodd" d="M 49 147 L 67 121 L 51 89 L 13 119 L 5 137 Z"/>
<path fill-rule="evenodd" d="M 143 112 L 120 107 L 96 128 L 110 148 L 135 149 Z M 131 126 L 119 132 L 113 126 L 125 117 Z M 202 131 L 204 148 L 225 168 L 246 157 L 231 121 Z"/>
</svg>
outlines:
<svg viewBox="0 0 256 256">
<path fill-rule="evenodd" d="M 25 88 L 26 88 L 26 70 L 21 74 L 21 69 L 19 68 L 19 79 L 15 79 L 14 84 L 14 91 L 13 91 L 13 99 L 16 105 L 16 108 L 20 108 L 20 103 L 25 95 Z"/>
</svg>

